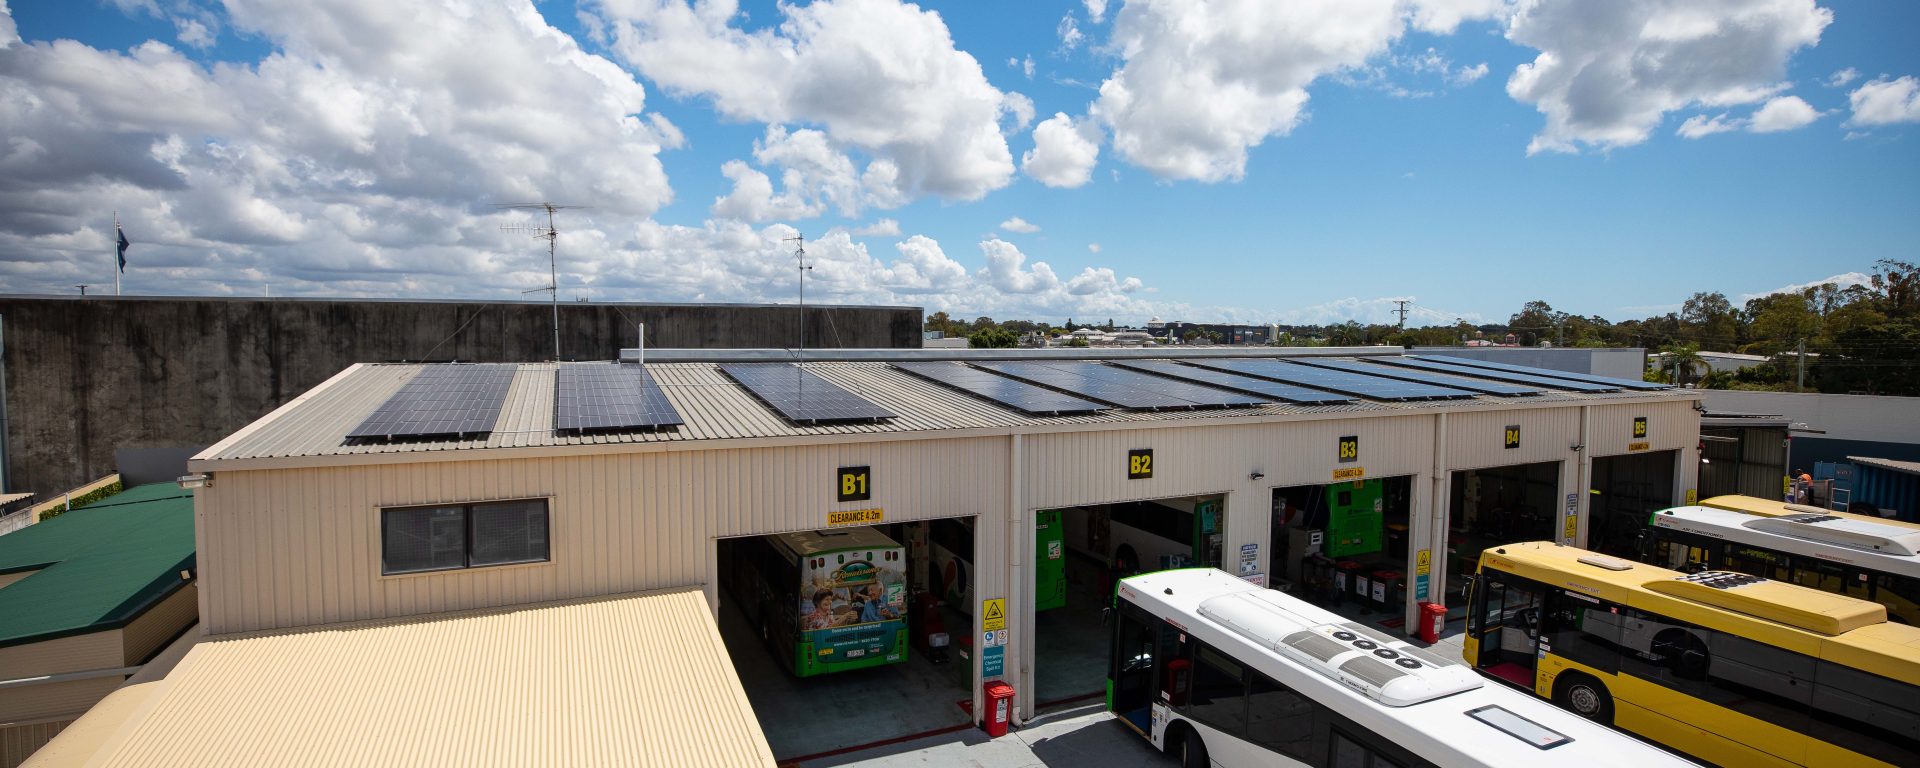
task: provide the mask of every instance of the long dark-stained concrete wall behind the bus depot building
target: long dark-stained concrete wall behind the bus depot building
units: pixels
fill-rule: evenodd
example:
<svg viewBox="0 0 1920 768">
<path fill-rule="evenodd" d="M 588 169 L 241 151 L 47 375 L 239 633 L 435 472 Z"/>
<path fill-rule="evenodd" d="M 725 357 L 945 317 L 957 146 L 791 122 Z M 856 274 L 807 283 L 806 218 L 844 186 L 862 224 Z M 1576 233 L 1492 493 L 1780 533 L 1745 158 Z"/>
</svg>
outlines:
<svg viewBox="0 0 1920 768">
<path fill-rule="evenodd" d="M 123 447 L 207 445 L 351 363 L 553 359 L 538 301 L 0 296 L 8 482 L 58 493 Z M 563 359 L 789 348 L 793 305 L 561 303 Z M 808 348 L 920 348 L 920 307 L 806 307 Z"/>
</svg>

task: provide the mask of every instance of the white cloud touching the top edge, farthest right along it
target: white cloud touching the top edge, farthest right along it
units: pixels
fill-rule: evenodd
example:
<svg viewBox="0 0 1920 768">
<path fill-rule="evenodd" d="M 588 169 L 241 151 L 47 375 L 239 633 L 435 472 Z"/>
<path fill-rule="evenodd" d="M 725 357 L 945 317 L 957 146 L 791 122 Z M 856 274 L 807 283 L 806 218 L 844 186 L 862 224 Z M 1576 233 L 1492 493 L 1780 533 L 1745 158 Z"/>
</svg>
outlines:
<svg viewBox="0 0 1920 768">
<path fill-rule="evenodd" d="M 1526 2 L 1507 38 L 1540 54 L 1507 94 L 1546 115 L 1528 154 L 1632 146 L 1674 109 L 1772 98 L 1832 21 L 1812 0 Z"/>
</svg>

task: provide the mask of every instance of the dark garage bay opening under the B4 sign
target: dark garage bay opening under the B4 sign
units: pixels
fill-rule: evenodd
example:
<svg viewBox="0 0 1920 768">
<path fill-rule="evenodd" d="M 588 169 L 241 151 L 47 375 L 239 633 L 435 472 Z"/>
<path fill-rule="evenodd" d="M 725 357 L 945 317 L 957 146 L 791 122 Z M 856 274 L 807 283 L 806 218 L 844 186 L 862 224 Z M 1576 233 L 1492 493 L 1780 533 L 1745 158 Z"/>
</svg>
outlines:
<svg viewBox="0 0 1920 768">
<path fill-rule="evenodd" d="M 1559 461 L 1453 472 L 1446 507 L 1448 609 L 1465 609 L 1465 576 L 1478 568 L 1488 547 L 1559 540 L 1565 509 L 1559 472 Z"/>
</svg>

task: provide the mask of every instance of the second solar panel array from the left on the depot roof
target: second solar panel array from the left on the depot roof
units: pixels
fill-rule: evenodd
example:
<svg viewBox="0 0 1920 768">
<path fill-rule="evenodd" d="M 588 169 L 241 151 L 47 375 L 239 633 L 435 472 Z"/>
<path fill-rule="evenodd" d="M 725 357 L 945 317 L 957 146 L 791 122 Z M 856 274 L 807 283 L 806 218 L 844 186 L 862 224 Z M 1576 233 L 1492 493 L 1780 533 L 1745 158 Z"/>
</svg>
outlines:
<svg viewBox="0 0 1920 768">
<path fill-rule="evenodd" d="M 561 365 L 553 376 L 555 432 L 672 430 L 685 420 L 645 365 Z"/>
</svg>

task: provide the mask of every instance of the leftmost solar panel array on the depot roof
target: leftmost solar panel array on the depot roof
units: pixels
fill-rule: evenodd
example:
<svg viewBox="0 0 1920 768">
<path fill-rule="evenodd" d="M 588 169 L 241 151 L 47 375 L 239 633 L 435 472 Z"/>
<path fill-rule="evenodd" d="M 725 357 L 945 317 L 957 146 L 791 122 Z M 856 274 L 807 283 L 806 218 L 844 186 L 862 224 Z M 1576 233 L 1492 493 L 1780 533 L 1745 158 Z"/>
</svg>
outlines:
<svg viewBox="0 0 1920 768">
<path fill-rule="evenodd" d="M 442 438 L 493 432 L 516 365 L 422 365 L 348 438 Z"/>
</svg>

